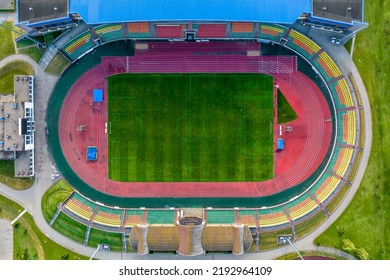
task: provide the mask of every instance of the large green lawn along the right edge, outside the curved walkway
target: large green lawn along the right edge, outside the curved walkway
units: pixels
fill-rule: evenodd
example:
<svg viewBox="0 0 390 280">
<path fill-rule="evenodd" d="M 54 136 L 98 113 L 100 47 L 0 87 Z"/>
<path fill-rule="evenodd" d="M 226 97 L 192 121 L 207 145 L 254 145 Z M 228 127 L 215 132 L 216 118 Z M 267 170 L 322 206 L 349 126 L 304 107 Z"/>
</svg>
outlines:
<svg viewBox="0 0 390 280">
<path fill-rule="evenodd" d="M 354 61 L 371 103 L 373 143 L 368 167 L 343 215 L 316 243 L 342 249 L 350 240 L 372 259 L 390 259 L 390 0 L 365 1 L 369 28 L 357 36 Z M 378 16 L 380 15 L 380 16 Z"/>
</svg>

